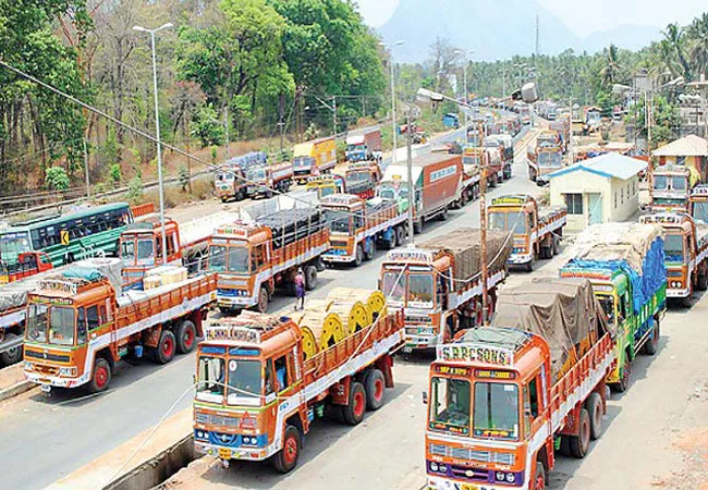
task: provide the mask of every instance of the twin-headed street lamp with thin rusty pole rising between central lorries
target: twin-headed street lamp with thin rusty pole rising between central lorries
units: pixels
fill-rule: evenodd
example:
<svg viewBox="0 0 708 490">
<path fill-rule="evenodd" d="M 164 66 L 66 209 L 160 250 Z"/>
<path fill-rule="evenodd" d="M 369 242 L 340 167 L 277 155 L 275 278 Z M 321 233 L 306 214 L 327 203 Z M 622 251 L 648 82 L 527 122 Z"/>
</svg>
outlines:
<svg viewBox="0 0 708 490">
<path fill-rule="evenodd" d="M 439 103 L 443 100 L 450 100 L 457 105 L 464 107 L 471 107 L 468 103 L 460 102 L 451 97 L 444 96 L 437 91 L 428 90 L 427 88 L 418 88 L 416 98 L 420 102 L 432 102 L 434 105 Z M 526 103 L 534 103 L 538 100 L 538 91 L 536 90 L 535 83 L 527 83 L 521 87 L 518 90 L 514 90 L 511 96 L 505 97 L 502 101 L 505 100 L 523 100 Z M 483 311 L 483 322 L 487 322 L 485 317 L 485 311 L 487 310 L 487 279 L 489 277 L 488 264 L 487 264 L 487 203 L 485 201 L 485 193 L 487 191 L 487 151 L 484 149 L 484 127 L 480 123 L 479 127 L 480 142 L 479 146 L 483 148 L 481 151 L 481 175 L 479 175 L 479 235 L 481 240 L 481 311 Z"/>
</svg>

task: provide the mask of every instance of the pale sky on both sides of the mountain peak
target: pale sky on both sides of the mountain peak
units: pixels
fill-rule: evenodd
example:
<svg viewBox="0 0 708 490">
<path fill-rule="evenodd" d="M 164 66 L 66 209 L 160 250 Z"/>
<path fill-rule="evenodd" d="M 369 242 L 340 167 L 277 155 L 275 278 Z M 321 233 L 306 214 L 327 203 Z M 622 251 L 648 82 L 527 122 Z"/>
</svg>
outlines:
<svg viewBox="0 0 708 490">
<path fill-rule="evenodd" d="M 364 19 L 371 27 L 383 25 L 399 3 L 399 0 L 355 1 L 358 2 Z M 661 28 L 671 22 L 685 25 L 698 14 L 708 11 L 706 0 L 538 0 L 538 2 L 554 13 L 581 38 L 627 24 Z"/>
</svg>

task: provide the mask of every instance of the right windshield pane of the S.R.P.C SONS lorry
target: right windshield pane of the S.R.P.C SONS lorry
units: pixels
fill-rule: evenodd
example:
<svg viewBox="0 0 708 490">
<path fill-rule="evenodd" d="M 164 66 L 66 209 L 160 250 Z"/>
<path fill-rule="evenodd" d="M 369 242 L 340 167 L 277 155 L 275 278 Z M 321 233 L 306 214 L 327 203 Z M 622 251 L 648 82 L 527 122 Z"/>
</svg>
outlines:
<svg viewBox="0 0 708 490">
<path fill-rule="evenodd" d="M 475 383 L 474 437 L 518 439 L 518 387 Z"/>
</svg>

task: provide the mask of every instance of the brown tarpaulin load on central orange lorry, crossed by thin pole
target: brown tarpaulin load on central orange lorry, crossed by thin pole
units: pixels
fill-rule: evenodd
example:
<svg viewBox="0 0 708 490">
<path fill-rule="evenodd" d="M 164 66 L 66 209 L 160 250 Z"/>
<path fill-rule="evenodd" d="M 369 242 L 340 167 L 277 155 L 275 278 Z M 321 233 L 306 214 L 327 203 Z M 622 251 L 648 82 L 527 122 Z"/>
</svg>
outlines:
<svg viewBox="0 0 708 490">
<path fill-rule="evenodd" d="M 474 228 L 460 228 L 442 236 L 417 245 L 427 250 L 445 250 L 454 257 L 455 290 L 481 270 L 481 232 Z M 487 262 L 490 269 L 504 267 L 511 255 L 512 240 L 508 232 L 487 231 Z"/>
</svg>

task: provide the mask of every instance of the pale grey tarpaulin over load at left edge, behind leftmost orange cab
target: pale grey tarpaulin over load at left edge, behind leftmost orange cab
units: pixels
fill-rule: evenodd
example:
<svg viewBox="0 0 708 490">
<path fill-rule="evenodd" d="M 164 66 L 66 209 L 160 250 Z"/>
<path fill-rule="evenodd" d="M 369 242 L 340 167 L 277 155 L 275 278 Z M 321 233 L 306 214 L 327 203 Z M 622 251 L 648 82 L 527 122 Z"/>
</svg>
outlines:
<svg viewBox="0 0 708 490">
<path fill-rule="evenodd" d="M 27 295 L 35 292 L 39 286 L 39 281 L 57 277 L 69 269 L 90 269 L 98 270 L 107 277 L 111 284 L 120 291 L 121 287 L 121 268 L 122 262 L 117 258 L 93 258 L 80 260 L 69 266 L 57 269 L 50 269 L 35 275 L 22 279 L 20 281 L 4 284 L 0 287 L 0 314 L 9 309 L 17 308 L 27 303 Z"/>
</svg>

